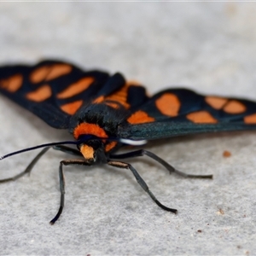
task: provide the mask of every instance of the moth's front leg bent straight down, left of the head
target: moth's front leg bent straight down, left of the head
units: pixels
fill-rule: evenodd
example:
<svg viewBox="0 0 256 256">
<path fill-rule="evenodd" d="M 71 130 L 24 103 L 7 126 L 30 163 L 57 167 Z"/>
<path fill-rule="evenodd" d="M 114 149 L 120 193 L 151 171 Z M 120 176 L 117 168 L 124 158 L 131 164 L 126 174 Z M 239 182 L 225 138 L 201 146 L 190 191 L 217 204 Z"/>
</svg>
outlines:
<svg viewBox="0 0 256 256">
<path fill-rule="evenodd" d="M 79 165 L 79 166 L 90 166 L 87 162 L 84 160 L 61 160 L 60 166 L 59 166 L 59 178 L 60 178 L 60 191 L 61 191 L 61 202 L 60 207 L 55 215 L 55 218 L 53 218 L 49 224 L 55 224 L 55 221 L 60 218 L 61 212 L 64 208 L 64 201 L 65 201 L 65 177 L 63 173 L 63 165 L 64 166 L 71 166 L 71 165 Z"/>
</svg>

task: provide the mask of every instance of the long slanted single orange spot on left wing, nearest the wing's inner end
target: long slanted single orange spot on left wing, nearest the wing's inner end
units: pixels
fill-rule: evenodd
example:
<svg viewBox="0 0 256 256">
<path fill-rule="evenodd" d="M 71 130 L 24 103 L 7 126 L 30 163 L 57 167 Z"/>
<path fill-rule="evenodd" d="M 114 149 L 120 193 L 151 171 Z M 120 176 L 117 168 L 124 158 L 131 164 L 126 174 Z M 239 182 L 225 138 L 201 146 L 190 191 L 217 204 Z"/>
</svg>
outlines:
<svg viewBox="0 0 256 256">
<path fill-rule="evenodd" d="M 80 92 L 86 90 L 90 84 L 94 82 L 94 78 L 84 78 L 79 79 L 79 81 L 70 84 L 65 90 L 62 90 L 60 93 L 57 94 L 58 99 L 66 99 L 72 96 L 79 94 Z"/>
</svg>

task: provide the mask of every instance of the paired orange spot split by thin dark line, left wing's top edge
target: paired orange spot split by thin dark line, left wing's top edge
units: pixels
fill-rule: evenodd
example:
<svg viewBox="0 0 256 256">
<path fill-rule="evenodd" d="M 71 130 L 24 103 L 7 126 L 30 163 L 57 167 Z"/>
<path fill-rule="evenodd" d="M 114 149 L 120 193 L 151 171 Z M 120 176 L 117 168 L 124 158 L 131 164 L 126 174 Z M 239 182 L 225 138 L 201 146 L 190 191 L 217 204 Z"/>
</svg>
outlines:
<svg viewBox="0 0 256 256">
<path fill-rule="evenodd" d="M 30 74 L 30 80 L 32 83 L 40 83 L 42 81 L 49 81 L 56 79 L 61 75 L 65 75 L 72 71 L 72 67 L 67 64 L 56 64 L 38 67 Z"/>
</svg>

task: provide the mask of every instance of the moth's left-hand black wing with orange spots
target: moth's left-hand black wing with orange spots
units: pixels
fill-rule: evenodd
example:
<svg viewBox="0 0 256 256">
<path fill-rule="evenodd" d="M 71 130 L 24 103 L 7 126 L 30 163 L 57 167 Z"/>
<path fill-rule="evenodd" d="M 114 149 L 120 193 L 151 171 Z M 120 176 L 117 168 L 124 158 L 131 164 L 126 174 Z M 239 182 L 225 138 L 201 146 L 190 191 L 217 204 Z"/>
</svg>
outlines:
<svg viewBox="0 0 256 256">
<path fill-rule="evenodd" d="M 68 127 L 70 117 L 84 102 L 111 94 L 124 84 L 119 73 L 109 77 L 101 71 L 84 72 L 63 61 L 0 67 L 0 91 L 61 129 Z"/>
</svg>

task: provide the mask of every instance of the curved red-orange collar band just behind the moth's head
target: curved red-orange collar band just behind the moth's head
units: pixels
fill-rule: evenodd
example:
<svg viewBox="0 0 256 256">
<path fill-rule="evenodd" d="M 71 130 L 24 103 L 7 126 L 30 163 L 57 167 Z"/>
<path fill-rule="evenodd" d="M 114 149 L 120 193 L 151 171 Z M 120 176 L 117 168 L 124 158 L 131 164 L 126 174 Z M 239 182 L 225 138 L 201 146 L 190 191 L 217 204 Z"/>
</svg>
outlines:
<svg viewBox="0 0 256 256">
<path fill-rule="evenodd" d="M 96 137 L 108 137 L 106 131 L 104 131 L 99 125 L 81 123 L 73 131 L 73 137 L 78 139 L 80 135 L 91 134 Z"/>
</svg>

